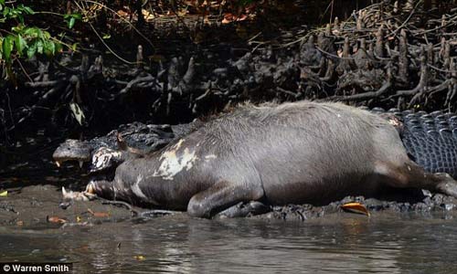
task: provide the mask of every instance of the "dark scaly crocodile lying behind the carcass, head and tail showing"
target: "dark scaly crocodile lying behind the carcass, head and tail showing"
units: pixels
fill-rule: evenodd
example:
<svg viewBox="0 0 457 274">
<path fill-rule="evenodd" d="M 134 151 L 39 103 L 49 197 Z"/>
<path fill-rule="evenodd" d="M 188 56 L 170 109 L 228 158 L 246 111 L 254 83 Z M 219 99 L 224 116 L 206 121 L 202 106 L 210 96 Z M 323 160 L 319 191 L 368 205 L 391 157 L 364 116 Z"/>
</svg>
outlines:
<svg viewBox="0 0 457 274">
<path fill-rule="evenodd" d="M 367 108 L 362 108 L 366 109 Z M 457 115 L 442 111 L 399 111 L 373 108 L 372 113 L 387 115 L 398 122 L 401 141 L 412 161 L 429 173 L 447 173 L 457 178 Z M 164 147 L 175 138 L 192 132 L 202 121 L 187 124 L 143 124 L 133 122 L 90 141 L 69 139 L 53 153 L 58 165 L 67 161 L 90 163 L 90 173 L 109 173 L 126 160 L 143 157 Z M 118 137 L 119 136 L 119 137 Z M 121 138 L 121 140 L 120 140 Z"/>
</svg>

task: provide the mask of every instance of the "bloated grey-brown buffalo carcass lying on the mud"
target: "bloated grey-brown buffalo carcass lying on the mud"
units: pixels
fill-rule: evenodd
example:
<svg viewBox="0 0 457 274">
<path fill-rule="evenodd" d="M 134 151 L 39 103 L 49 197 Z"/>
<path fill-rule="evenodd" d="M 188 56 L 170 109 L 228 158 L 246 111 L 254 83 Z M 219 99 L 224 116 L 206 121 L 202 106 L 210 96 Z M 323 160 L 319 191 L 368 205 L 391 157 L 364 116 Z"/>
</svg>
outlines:
<svg viewBox="0 0 457 274">
<path fill-rule="evenodd" d="M 412 162 L 398 130 L 341 103 L 244 105 L 164 149 L 122 163 L 87 192 L 210 217 L 239 202 L 324 204 L 414 187 L 457 197 L 449 174 Z"/>
</svg>

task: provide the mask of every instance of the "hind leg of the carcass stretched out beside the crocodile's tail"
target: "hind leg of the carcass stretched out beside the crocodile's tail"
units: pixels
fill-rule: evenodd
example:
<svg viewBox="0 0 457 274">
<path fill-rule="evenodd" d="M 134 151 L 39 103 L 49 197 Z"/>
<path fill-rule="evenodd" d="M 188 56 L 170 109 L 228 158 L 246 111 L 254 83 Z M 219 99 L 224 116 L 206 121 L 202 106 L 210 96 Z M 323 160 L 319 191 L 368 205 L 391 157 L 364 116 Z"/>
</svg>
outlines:
<svg viewBox="0 0 457 274">
<path fill-rule="evenodd" d="M 411 161 L 400 167 L 382 165 L 379 168 L 387 178 L 386 183 L 394 187 L 414 187 L 428 189 L 457 197 L 457 181 L 449 174 L 430 174 Z"/>
</svg>

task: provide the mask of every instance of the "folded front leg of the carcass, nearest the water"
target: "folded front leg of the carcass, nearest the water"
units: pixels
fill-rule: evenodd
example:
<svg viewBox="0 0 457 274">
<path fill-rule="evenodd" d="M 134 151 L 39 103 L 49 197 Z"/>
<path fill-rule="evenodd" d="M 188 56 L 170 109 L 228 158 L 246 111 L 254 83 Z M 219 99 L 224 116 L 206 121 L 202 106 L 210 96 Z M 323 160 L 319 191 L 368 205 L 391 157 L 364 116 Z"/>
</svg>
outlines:
<svg viewBox="0 0 457 274">
<path fill-rule="evenodd" d="M 187 205 L 190 216 L 211 217 L 239 202 L 258 200 L 263 196 L 263 189 L 250 189 L 246 185 L 220 181 L 207 190 L 192 196 Z"/>
</svg>

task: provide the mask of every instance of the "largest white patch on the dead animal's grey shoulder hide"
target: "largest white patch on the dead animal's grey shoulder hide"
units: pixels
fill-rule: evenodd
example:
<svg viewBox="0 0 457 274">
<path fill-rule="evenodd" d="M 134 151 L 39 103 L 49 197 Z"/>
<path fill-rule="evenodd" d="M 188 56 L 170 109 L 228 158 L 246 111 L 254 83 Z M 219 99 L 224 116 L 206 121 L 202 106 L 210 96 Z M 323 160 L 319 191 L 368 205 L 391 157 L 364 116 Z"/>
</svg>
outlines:
<svg viewBox="0 0 457 274">
<path fill-rule="evenodd" d="M 154 177 L 160 176 L 164 180 L 173 180 L 175 174 L 178 174 L 183 169 L 188 171 L 192 168 L 194 162 L 197 160 L 195 151 L 190 152 L 188 148 L 185 148 L 183 153 L 180 153 L 179 156 L 176 155 L 183 142 L 184 139 L 179 140 L 179 142 L 168 151 L 162 153 L 160 156 L 162 163 L 160 163 L 159 168 L 154 171 Z"/>
</svg>

